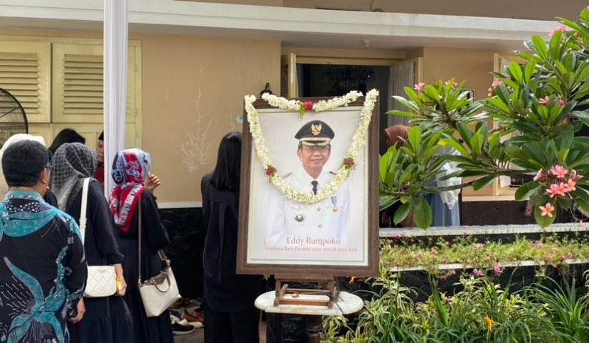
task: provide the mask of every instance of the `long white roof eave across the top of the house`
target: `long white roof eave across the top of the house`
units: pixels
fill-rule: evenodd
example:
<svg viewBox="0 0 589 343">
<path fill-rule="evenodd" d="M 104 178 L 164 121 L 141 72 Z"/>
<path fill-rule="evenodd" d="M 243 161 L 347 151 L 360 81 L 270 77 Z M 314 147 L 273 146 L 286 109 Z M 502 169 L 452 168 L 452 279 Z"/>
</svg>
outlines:
<svg viewBox="0 0 589 343">
<path fill-rule="evenodd" d="M 102 6 L 92 0 L 0 0 L 0 27 L 102 31 Z M 65 7 L 55 7 L 55 4 Z M 69 5 L 68 5 L 69 4 Z M 523 48 L 547 36 L 551 21 L 277 6 L 129 0 L 129 33 L 280 41 L 285 47 L 405 50 L 421 46 Z"/>
</svg>

